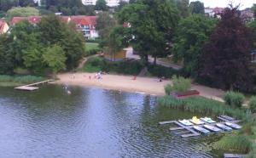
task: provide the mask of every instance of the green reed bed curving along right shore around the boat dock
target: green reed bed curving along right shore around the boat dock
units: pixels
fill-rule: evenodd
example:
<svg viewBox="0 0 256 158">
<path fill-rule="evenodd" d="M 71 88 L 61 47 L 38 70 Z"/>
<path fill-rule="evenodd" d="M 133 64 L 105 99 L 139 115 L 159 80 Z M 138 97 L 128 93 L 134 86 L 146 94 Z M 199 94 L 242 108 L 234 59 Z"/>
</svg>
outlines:
<svg viewBox="0 0 256 158">
<path fill-rule="evenodd" d="M 218 150 L 229 150 L 239 153 L 249 152 L 249 155 L 253 155 L 256 151 L 256 116 L 247 114 L 243 108 L 235 108 L 222 102 L 202 97 L 175 99 L 172 96 L 165 96 L 158 99 L 158 104 L 168 108 L 201 113 L 204 116 L 227 115 L 241 119 L 243 123 L 242 129 L 233 132 L 231 135 L 225 135 L 219 141 L 213 143 L 213 147 Z"/>
</svg>

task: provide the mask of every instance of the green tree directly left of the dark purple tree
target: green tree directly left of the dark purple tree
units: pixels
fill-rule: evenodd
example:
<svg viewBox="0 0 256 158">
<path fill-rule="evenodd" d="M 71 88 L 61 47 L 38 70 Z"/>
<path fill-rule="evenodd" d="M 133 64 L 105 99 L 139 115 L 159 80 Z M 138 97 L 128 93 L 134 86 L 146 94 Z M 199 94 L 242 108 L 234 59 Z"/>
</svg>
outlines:
<svg viewBox="0 0 256 158">
<path fill-rule="evenodd" d="M 188 76 L 196 76 L 200 67 L 202 49 L 212 35 L 215 19 L 192 14 L 180 20 L 174 40 L 173 54 L 176 61 L 183 61 L 183 70 Z"/>
</svg>

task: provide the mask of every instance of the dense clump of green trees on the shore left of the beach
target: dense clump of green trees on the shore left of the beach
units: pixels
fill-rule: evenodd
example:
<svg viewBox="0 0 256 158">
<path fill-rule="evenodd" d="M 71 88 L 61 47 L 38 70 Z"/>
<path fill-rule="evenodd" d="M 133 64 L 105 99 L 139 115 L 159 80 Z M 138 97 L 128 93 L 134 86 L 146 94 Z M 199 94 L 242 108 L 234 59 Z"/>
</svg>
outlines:
<svg viewBox="0 0 256 158">
<path fill-rule="evenodd" d="M 0 74 L 25 68 L 34 74 L 71 70 L 84 54 L 84 37 L 58 17 L 44 17 L 38 25 L 16 24 L 0 36 Z"/>
</svg>

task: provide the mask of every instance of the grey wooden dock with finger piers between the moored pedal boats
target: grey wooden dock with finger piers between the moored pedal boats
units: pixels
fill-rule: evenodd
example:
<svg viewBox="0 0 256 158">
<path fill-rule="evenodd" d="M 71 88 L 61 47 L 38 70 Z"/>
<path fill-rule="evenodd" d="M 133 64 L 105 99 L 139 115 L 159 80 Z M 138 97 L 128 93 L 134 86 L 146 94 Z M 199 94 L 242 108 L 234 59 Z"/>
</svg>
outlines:
<svg viewBox="0 0 256 158">
<path fill-rule="evenodd" d="M 219 116 L 217 117 L 220 122 L 215 122 L 215 123 L 207 123 L 206 121 L 204 121 L 204 124 L 202 125 L 195 125 L 197 127 L 203 127 L 204 125 L 211 125 L 211 126 L 215 126 L 217 123 L 224 123 L 225 121 L 229 121 L 231 123 L 237 123 L 239 122 L 238 120 L 233 119 L 232 117 L 222 117 Z M 229 118 L 229 120 L 227 120 L 227 118 Z M 198 133 L 195 131 L 195 129 L 193 128 L 193 126 L 184 126 L 182 123 L 178 122 L 178 121 L 160 121 L 159 122 L 160 125 L 166 125 L 166 124 L 174 124 L 176 125 L 176 127 L 170 127 L 169 130 L 171 130 L 172 132 L 176 132 L 176 134 L 181 134 L 182 138 L 188 138 L 188 137 L 195 137 L 195 136 L 199 136 L 201 135 L 201 133 Z M 223 133 L 227 133 L 224 132 Z"/>
</svg>

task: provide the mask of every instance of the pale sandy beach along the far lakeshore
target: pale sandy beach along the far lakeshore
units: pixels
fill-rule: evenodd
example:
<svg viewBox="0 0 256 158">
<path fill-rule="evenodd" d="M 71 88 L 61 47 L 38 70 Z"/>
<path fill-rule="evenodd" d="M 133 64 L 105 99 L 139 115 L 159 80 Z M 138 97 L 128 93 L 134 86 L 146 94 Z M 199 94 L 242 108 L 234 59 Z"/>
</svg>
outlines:
<svg viewBox="0 0 256 158">
<path fill-rule="evenodd" d="M 84 87 L 102 87 L 105 89 L 152 95 L 165 95 L 165 85 L 172 83 L 171 80 L 158 82 L 156 77 L 137 76 L 136 80 L 134 80 L 134 76 L 102 75 L 102 79 L 96 79 L 94 78 L 95 75 L 96 73 L 59 74 L 58 78 L 60 80 L 56 83 Z M 201 96 L 218 99 L 219 101 L 222 101 L 221 97 L 224 94 L 222 90 L 201 85 L 192 85 L 192 89 L 198 90 Z"/>
</svg>

